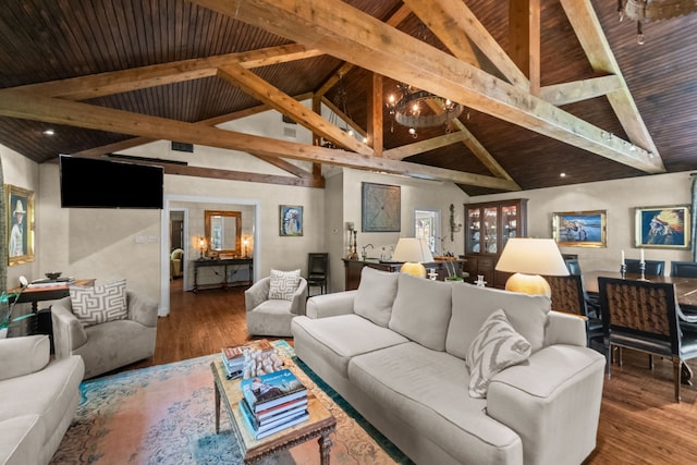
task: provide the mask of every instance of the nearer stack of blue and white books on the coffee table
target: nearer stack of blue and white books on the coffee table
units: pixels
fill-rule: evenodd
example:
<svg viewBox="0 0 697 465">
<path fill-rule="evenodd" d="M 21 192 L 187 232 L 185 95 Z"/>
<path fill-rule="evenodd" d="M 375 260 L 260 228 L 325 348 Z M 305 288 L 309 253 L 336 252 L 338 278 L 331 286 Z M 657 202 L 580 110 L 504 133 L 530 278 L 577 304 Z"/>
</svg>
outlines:
<svg viewBox="0 0 697 465">
<path fill-rule="evenodd" d="M 243 379 L 240 387 L 240 412 L 257 440 L 309 418 L 307 389 L 289 369 Z"/>
</svg>

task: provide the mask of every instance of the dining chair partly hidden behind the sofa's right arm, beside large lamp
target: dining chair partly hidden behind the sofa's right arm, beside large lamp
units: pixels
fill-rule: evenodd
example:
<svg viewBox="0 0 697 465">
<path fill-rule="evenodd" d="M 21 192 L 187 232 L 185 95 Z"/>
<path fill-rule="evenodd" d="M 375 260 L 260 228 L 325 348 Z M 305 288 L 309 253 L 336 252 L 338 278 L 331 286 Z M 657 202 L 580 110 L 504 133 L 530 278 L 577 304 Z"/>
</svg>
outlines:
<svg viewBox="0 0 697 465">
<path fill-rule="evenodd" d="M 588 298 L 582 277 L 545 277 L 552 290 L 552 310 L 577 315 L 586 320 L 586 341 L 589 347 L 603 344 L 602 320 L 588 311 Z"/>
</svg>

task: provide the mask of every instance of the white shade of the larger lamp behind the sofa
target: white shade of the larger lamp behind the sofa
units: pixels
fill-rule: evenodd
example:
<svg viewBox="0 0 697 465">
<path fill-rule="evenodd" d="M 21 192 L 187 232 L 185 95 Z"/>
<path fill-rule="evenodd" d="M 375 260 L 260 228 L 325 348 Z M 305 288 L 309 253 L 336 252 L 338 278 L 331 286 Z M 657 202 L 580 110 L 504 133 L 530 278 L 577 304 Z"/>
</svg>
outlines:
<svg viewBox="0 0 697 465">
<path fill-rule="evenodd" d="M 509 273 L 568 276 L 562 254 L 551 238 L 509 238 L 496 269 Z"/>
</svg>

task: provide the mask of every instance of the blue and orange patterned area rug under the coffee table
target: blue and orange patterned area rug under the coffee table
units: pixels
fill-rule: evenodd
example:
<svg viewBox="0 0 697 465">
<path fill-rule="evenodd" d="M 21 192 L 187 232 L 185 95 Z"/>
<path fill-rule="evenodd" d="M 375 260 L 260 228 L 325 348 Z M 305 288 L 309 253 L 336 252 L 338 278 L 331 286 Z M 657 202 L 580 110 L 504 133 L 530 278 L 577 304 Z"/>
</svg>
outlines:
<svg viewBox="0 0 697 465">
<path fill-rule="evenodd" d="M 274 341 L 294 358 L 285 341 Z M 84 381 L 77 414 L 51 464 L 241 464 L 224 407 L 215 431 L 213 381 L 208 355 Z M 306 365 L 298 376 L 337 418 L 331 463 L 409 464 Z M 317 441 L 279 453 L 265 465 L 318 464 Z"/>
</svg>

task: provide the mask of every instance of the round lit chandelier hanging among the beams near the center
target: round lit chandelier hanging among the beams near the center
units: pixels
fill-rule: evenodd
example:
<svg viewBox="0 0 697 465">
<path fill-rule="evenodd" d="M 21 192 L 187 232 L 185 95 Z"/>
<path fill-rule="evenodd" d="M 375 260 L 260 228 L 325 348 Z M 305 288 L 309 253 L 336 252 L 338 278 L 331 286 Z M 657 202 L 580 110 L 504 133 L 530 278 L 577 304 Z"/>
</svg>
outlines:
<svg viewBox="0 0 697 465">
<path fill-rule="evenodd" d="M 386 105 L 394 121 L 408 127 L 408 133 L 414 138 L 418 137 L 418 127 L 435 127 L 442 124 L 445 126 L 445 132 L 450 133 L 451 122 L 462 114 L 462 105 L 443 97 L 415 89 L 408 84 L 399 84 L 398 89 L 402 97 L 398 100 L 394 95 L 391 95 Z M 426 110 L 421 106 L 429 108 Z M 394 132 L 394 124 L 391 131 Z"/>
</svg>

